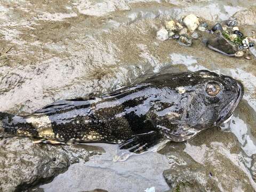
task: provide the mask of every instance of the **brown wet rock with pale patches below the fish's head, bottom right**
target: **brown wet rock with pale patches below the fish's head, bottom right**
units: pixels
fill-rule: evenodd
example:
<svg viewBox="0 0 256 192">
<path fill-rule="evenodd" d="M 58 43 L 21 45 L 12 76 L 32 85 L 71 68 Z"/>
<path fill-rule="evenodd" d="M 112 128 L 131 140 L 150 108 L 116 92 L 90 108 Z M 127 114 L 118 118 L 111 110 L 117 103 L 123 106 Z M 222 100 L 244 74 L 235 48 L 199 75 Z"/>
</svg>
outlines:
<svg viewBox="0 0 256 192">
<path fill-rule="evenodd" d="M 229 144 L 237 142 L 235 136 L 215 131 L 207 130 L 187 143 L 169 143 L 162 150 L 170 163 L 163 176 L 171 191 L 254 191 L 250 173 L 236 166 L 243 159 L 241 149 Z M 225 143 L 219 142 L 221 137 L 226 137 Z"/>
</svg>

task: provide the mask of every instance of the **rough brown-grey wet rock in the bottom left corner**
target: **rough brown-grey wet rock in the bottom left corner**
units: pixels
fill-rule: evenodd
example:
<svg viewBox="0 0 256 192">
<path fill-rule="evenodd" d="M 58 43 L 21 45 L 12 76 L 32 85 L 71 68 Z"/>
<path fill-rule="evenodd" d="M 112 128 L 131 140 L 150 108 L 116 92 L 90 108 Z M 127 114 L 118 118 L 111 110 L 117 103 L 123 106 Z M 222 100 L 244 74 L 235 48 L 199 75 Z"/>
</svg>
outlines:
<svg viewBox="0 0 256 192">
<path fill-rule="evenodd" d="M 85 154 L 86 153 L 86 154 Z M 91 156 L 84 149 L 84 159 Z M 51 181 L 79 158 L 60 145 L 33 143 L 29 138 L 0 141 L 0 191 L 21 191 Z"/>
</svg>

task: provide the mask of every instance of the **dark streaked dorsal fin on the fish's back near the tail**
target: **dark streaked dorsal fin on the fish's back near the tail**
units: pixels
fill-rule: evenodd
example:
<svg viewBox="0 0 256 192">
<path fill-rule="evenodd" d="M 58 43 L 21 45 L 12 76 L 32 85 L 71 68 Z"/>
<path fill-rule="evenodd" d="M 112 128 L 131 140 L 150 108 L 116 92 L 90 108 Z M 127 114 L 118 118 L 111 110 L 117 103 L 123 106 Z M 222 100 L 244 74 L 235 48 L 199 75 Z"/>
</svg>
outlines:
<svg viewBox="0 0 256 192">
<path fill-rule="evenodd" d="M 70 110 L 73 108 L 90 107 L 91 103 L 97 101 L 97 98 L 76 98 L 67 100 L 58 100 L 50 105 L 46 105 L 41 109 L 38 109 L 34 114 L 51 114 L 62 110 Z"/>
</svg>

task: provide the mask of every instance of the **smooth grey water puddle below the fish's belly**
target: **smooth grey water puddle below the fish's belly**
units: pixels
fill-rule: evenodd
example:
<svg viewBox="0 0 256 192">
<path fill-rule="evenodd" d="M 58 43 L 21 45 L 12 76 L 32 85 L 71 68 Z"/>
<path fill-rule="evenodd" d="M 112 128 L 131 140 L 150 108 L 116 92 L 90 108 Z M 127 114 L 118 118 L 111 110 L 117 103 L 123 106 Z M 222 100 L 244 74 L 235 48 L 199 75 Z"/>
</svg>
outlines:
<svg viewBox="0 0 256 192">
<path fill-rule="evenodd" d="M 150 189 L 153 187 L 155 191 L 169 189 L 163 178 L 163 171 L 169 169 L 166 156 L 149 152 L 133 155 L 126 161 L 114 162 L 117 146 L 101 144 L 100 147 L 105 149 L 106 153 L 93 156 L 89 162 L 71 165 L 68 171 L 40 188 L 45 192 L 83 191 L 95 188 L 111 192 L 153 191 Z"/>
</svg>

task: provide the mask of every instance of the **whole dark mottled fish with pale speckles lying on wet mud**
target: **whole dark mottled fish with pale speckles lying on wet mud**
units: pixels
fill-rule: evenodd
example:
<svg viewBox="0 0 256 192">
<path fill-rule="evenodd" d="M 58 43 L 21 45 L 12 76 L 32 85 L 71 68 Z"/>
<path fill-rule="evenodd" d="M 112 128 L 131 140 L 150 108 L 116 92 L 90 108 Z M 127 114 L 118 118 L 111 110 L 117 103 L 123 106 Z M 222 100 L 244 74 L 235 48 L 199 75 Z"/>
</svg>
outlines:
<svg viewBox="0 0 256 192">
<path fill-rule="evenodd" d="M 243 93 L 241 82 L 209 70 L 156 74 L 107 94 L 58 100 L 25 116 L 1 112 L 0 135 L 46 143 L 113 143 L 141 153 L 221 125 Z"/>
</svg>

